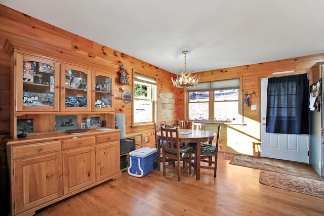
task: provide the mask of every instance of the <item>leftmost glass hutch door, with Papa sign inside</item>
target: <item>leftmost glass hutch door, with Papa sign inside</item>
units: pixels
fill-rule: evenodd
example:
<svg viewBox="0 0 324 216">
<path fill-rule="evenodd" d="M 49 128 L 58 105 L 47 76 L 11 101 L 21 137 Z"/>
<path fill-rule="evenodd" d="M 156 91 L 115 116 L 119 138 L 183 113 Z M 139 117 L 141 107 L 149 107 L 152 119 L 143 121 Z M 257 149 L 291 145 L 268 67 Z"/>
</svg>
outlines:
<svg viewBox="0 0 324 216">
<path fill-rule="evenodd" d="M 59 66 L 46 59 L 16 54 L 16 111 L 59 111 Z"/>
</svg>

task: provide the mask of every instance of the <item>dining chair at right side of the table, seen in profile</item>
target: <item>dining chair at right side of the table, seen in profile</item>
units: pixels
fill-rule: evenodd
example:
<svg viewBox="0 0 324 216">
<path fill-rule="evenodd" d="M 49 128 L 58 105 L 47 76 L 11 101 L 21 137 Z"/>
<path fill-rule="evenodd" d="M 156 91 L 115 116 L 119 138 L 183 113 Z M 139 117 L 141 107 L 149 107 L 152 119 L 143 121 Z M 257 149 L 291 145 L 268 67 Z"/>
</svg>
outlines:
<svg viewBox="0 0 324 216">
<path fill-rule="evenodd" d="M 211 145 L 212 141 L 210 141 L 210 144 L 200 145 L 200 168 L 214 169 L 214 178 L 216 178 L 216 171 L 217 171 L 217 156 L 218 156 L 220 132 L 221 132 L 221 125 L 218 125 L 216 145 Z M 213 158 L 215 159 L 213 160 Z M 206 165 L 206 162 L 208 163 L 208 166 Z M 212 166 L 213 164 L 214 166 Z"/>
</svg>

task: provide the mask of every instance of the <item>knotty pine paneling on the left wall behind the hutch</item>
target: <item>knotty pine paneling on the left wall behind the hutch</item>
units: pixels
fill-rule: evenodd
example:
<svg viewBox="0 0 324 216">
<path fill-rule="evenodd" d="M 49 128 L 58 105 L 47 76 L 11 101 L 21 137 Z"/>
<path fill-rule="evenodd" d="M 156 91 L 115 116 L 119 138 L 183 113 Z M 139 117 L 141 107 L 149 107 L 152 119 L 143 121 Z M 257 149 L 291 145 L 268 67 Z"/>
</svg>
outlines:
<svg viewBox="0 0 324 216">
<path fill-rule="evenodd" d="M 52 56 L 53 58 L 63 58 L 66 62 L 73 62 L 75 64 L 85 64 L 84 66 L 88 68 L 96 68 L 103 72 L 112 72 L 115 74 L 115 112 L 122 112 L 126 114 L 126 132 L 141 132 L 143 133 L 143 139 L 145 136 L 149 137 L 148 145 L 154 145 L 155 137 L 154 137 L 154 125 L 148 125 L 145 127 L 133 127 L 132 126 L 132 103 L 125 104 L 121 101 L 120 95 L 121 90 L 129 90 L 133 92 L 132 84 L 129 86 L 121 85 L 119 83 L 119 74 L 117 73 L 120 69 L 120 64 L 123 64 L 127 71 L 129 72 L 130 80 L 132 80 L 132 71 L 133 69 L 136 72 L 142 73 L 144 75 L 149 75 L 152 77 L 156 77 L 157 86 L 160 87 L 159 93 L 164 93 L 166 95 L 166 99 L 168 102 L 172 104 L 168 106 L 168 110 L 173 113 L 172 117 L 166 117 L 164 115 L 157 116 L 157 119 L 161 119 L 164 121 L 168 121 L 170 123 L 175 123 L 175 119 L 177 119 L 177 106 L 176 106 L 176 98 L 178 97 L 176 94 L 179 94 L 179 90 L 174 88 L 171 83 L 171 73 L 160 69 L 154 65 L 143 62 L 131 56 L 128 56 L 124 53 L 120 53 L 118 51 L 112 50 L 105 46 L 102 46 L 94 41 L 90 41 L 86 38 L 75 35 L 71 32 L 66 32 L 60 28 L 52 26 L 50 24 L 44 23 L 40 20 L 34 19 L 29 16 L 25 16 L 19 12 L 8 9 L 4 6 L 0 6 L 0 44 L 3 45 L 6 39 L 10 39 L 12 41 L 19 41 L 23 44 L 34 46 L 34 47 L 42 47 L 41 55 L 43 56 Z M 34 51 L 36 52 L 37 49 Z M 33 51 L 33 50 L 32 50 Z M 73 60 L 78 58 L 78 62 L 74 62 Z M 3 60 L 3 63 L 0 65 L 6 65 L 6 70 L 9 69 L 9 57 L 3 51 L 0 53 L 0 60 Z M 120 64 L 118 63 L 120 61 Z M 1 66 L 3 69 L 5 66 Z M 8 70 L 9 72 L 9 70 Z M 4 74 L 5 79 L 9 79 L 9 74 Z M 161 78 L 163 77 L 163 78 Z M 9 82 L 8 82 L 9 83 Z M 164 88 L 161 88 L 164 87 Z M 3 88 L 7 91 L 9 87 L 3 85 Z M 182 93 L 181 93 L 182 94 Z M 166 107 L 166 106 L 164 106 Z M 173 109 L 173 111 L 172 111 Z M 7 107 L 9 112 L 9 109 Z M 9 116 L 9 115 L 8 115 Z M 26 116 L 23 116 L 26 117 Z M 34 117 L 38 122 L 36 115 L 28 116 Z M 78 116 L 79 118 L 79 116 Z M 81 118 L 81 116 L 80 116 Z M 172 122 L 174 121 L 174 122 Z M 37 123 L 35 125 L 37 126 Z M 53 126 L 41 125 L 42 128 L 39 128 L 39 132 L 49 130 L 53 130 Z M 140 128 L 140 129 L 139 129 Z M 153 133 L 152 133 L 153 131 Z M 154 138 L 154 139 L 153 139 Z M 150 143 L 152 142 L 152 143 Z"/>
</svg>

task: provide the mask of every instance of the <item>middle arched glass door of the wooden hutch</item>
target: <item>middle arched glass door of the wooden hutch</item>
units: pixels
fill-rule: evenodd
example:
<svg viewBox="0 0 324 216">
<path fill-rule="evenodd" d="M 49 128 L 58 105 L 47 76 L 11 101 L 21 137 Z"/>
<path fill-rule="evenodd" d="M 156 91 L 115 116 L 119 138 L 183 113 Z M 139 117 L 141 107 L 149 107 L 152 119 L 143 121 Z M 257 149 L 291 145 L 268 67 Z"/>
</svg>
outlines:
<svg viewBox="0 0 324 216">
<path fill-rule="evenodd" d="M 90 111 L 90 70 L 63 65 L 61 72 L 61 111 Z"/>
</svg>

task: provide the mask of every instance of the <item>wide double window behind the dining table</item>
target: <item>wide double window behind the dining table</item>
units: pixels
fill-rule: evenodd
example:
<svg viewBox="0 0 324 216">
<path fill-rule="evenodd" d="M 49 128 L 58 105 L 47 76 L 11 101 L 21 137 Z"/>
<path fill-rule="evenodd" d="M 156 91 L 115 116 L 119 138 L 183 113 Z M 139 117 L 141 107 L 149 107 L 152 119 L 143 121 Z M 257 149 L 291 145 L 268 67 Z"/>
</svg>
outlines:
<svg viewBox="0 0 324 216">
<path fill-rule="evenodd" d="M 189 120 L 233 122 L 240 116 L 240 80 L 202 82 L 187 90 Z"/>
</svg>

